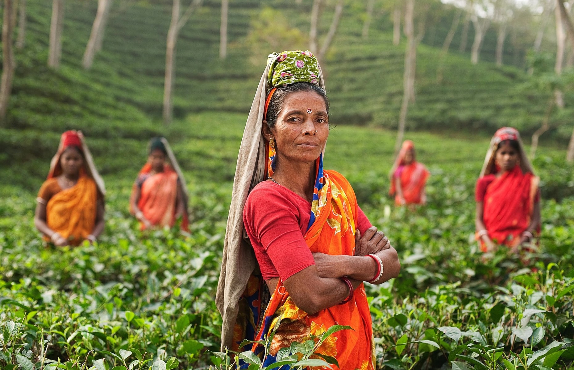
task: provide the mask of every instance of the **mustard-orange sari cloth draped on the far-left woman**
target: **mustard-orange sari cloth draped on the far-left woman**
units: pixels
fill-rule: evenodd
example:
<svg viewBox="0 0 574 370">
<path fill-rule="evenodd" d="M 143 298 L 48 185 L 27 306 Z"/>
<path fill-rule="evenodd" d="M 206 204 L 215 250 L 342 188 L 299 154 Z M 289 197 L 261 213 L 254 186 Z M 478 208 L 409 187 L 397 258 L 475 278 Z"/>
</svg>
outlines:
<svg viewBox="0 0 574 370">
<path fill-rule="evenodd" d="M 94 229 L 98 203 L 96 182 L 86 174 L 76 185 L 56 193 L 46 204 L 46 223 L 77 246 Z"/>
</svg>

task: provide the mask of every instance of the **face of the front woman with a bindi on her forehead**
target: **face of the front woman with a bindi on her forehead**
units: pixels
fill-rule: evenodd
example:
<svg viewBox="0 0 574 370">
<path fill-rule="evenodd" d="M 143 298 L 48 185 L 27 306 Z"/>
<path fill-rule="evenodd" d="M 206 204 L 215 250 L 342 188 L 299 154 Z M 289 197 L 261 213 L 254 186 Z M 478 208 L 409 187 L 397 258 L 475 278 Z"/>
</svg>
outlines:
<svg viewBox="0 0 574 370">
<path fill-rule="evenodd" d="M 329 137 L 325 101 L 316 92 L 287 95 L 271 134 L 276 142 L 279 163 L 281 158 L 297 162 L 315 161 Z"/>
</svg>

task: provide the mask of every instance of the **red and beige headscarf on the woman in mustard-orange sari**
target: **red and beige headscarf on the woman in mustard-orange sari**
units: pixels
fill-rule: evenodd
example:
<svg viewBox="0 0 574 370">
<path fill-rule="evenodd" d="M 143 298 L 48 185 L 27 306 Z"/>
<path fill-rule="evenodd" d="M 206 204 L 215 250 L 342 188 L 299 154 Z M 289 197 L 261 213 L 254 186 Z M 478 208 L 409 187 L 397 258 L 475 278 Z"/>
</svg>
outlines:
<svg viewBox="0 0 574 370">
<path fill-rule="evenodd" d="M 82 131 L 70 130 L 61 135 L 60 145 L 58 146 L 58 151 L 54 157 L 52 157 L 52 161 L 50 162 L 50 170 L 47 178 L 50 179 L 61 175 L 62 168 L 60 165 L 60 157 L 69 147 L 76 147 L 82 151 L 82 155 L 84 156 L 84 170 L 88 176 L 94 179 L 102 196 L 106 195 L 106 185 L 96 169 L 94 159 L 92 158 L 90 149 L 88 149 L 88 146 L 84 141 L 84 134 Z"/>
</svg>

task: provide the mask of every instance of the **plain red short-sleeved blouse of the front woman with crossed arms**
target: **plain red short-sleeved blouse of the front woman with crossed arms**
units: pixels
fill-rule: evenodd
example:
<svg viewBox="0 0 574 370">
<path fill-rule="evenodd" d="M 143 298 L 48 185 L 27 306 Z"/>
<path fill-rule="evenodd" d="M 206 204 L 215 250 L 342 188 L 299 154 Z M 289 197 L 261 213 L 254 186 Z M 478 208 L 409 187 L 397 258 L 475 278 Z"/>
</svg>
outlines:
<svg viewBox="0 0 574 370">
<path fill-rule="evenodd" d="M 307 232 L 311 202 L 272 181 L 260 182 L 249 194 L 243 224 L 263 279 L 285 281 L 315 264 L 303 237 Z M 359 208 L 356 228 L 363 234 L 371 223 Z"/>
</svg>

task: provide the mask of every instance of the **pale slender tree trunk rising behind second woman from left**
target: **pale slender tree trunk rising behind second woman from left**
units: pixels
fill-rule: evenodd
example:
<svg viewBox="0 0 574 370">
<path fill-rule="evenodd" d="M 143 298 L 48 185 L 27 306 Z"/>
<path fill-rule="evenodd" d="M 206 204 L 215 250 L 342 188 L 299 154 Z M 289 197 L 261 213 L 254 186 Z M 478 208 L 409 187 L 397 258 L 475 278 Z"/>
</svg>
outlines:
<svg viewBox="0 0 574 370">
<path fill-rule="evenodd" d="M 165 49 L 165 78 L 164 78 L 164 124 L 170 124 L 173 118 L 173 79 L 175 77 L 176 41 L 179 30 L 177 23 L 180 15 L 180 0 L 173 0 L 172 21 L 169 24 L 168 38 Z"/>
</svg>

